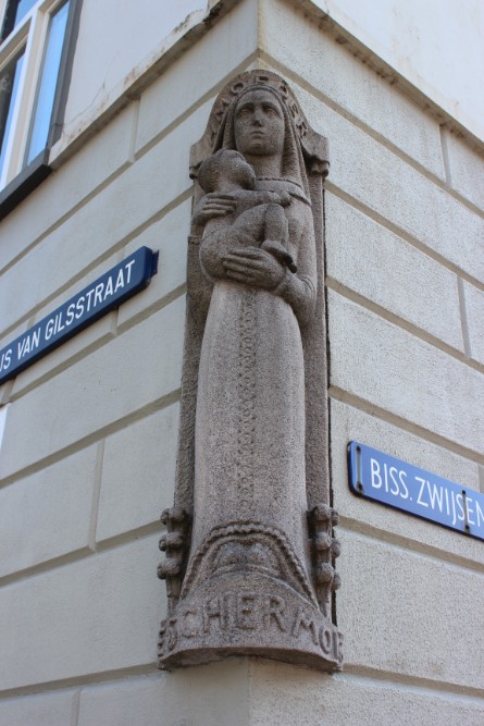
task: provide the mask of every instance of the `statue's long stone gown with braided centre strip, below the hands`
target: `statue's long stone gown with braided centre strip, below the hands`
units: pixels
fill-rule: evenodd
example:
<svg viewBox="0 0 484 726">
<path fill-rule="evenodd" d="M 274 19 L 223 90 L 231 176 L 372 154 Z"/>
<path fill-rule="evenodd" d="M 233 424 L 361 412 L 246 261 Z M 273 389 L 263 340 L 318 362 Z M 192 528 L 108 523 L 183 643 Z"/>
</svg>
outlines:
<svg viewBox="0 0 484 726">
<path fill-rule="evenodd" d="M 310 207 L 293 197 L 285 213 L 298 275 L 310 280 L 305 276 L 314 270 Z M 314 285 L 306 290 L 311 298 Z M 311 594 L 303 576 L 309 565 L 305 409 L 303 352 L 293 307 L 274 292 L 215 279 L 199 367 L 189 561 L 214 531 L 223 534 L 229 524 L 253 530 L 259 524 L 261 532 L 273 530 L 281 556 L 274 558 L 262 538 L 212 552 L 216 567 L 256 567 L 275 577 L 296 567 L 306 580 L 300 587 Z M 281 558 L 290 563 L 281 565 Z"/>
</svg>

